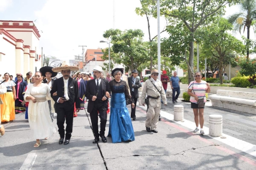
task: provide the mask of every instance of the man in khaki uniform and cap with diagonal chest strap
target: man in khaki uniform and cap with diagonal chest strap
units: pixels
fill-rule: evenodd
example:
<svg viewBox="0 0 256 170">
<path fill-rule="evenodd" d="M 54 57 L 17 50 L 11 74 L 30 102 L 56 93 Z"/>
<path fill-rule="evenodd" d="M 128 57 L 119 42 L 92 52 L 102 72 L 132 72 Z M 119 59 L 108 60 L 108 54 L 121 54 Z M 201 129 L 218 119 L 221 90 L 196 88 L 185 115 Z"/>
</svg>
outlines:
<svg viewBox="0 0 256 170">
<path fill-rule="evenodd" d="M 144 88 L 142 90 L 142 95 L 141 95 L 141 99 L 142 99 L 141 102 L 143 106 L 145 106 L 144 98 L 146 97 L 146 94 L 147 94 L 147 98 L 149 98 L 149 108 L 147 111 L 147 120 L 145 125 L 146 125 L 146 130 L 148 132 L 152 131 L 154 133 L 158 133 L 158 131 L 156 130 L 156 125 L 158 124 L 158 118 L 161 110 L 160 97 L 162 98 L 164 105 L 167 105 L 166 95 L 164 92 L 162 82 L 158 80 L 157 77 L 158 77 L 158 70 L 156 69 L 152 70 L 151 78 L 146 80 L 144 84 Z"/>
</svg>

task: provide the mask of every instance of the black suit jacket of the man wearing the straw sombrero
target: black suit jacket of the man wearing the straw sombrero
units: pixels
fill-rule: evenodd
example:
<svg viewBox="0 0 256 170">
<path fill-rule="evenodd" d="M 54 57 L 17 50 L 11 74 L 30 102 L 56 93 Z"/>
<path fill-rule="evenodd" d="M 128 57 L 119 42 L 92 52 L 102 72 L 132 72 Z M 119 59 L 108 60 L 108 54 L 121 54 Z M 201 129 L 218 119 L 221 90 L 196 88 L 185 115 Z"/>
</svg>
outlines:
<svg viewBox="0 0 256 170">
<path fill-rule="evenodd" d="M 52 95 L 54 92 L 57 92 L 57 96 Z M 52 90 L 50 93 L 52 99 L 55 101 L 55 104 L 61 104 L 57 103 L 57 100 L 58 98 L 64 98 L 64 80 L 62 77 L 58 78 L 57 80 L 54 80 L 54 84 L 52 86 Z M 76 108 L 80 108 L 78 83 L 76 80 L 72 78 L 68 79 L 68 97 L 68 103 L 70 105 L 73 105 L 76 102 Z"/>
</svg>

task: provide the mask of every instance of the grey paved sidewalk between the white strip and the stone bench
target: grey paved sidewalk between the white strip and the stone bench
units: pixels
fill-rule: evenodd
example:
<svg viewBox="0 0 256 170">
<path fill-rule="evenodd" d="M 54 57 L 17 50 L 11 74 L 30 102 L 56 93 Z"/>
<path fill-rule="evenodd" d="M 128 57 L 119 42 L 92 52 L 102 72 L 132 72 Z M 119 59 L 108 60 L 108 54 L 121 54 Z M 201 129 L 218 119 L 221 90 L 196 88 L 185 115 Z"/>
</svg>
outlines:
<svg viewBox="0 0 256 170">
<path fill-rule="evenodd" d="M 182 102 L 181 100 L 182 99 L 179 98 L 176 104 L 184 106 L 184 119 L 194 122 L 194 113 L 190 108 L 190 103 Z M 168 98 L 167 101 L 168 106 L 162 107 L 162 110 L 173 113 L 174 104 L 172 104 L 172 99 Z M 204 126 L 208 127 L 209 115 L 212 114 L 222 115 L 223 133 L 256 145 L 256 115 L 214 107 L 211 106 L 211 102 L 206 102 L 204 109 Z"/>
</svg>

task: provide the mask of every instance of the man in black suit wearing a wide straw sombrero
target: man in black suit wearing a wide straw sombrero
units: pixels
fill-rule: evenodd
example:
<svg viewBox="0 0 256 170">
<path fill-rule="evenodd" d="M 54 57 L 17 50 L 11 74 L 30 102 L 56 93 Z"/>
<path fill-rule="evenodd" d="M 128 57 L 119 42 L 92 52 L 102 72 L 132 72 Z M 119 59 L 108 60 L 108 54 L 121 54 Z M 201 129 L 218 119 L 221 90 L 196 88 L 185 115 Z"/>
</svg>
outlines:
<svg viewBox="0 0 256 170">
<path fill-rule="evenodd" d="M 51 90 L 52 99 L 55 101 L 54 108 L 57 113 L 57 125 L 59 128 L 60 140 L 62 144 L 65 136 L 64 122 L 66 118 L 66 138 L 64 145 L 69 144 L 73 130 L 74 103 L 76 102 L 76 112 L 80 110 L 80 99 L 78 83 L 70 78 L 70 71 L 78 70 L 77 66 L 68 66 L 62 63 L 62 66 L 52 68 L 54 72 L 61 72 L 63 77 L 54 80 Z M 57 95 L 55 95 L 55 92 Z"/>
</svg>

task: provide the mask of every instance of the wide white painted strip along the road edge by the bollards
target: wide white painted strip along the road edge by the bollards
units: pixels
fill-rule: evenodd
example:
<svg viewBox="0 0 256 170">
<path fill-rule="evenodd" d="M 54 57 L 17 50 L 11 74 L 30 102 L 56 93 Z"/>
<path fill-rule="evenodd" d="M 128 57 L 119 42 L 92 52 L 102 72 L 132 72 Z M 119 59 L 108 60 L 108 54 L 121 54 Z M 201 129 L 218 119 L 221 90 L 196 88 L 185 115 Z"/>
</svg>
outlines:
<svg viewBox="0 0 256 170">
<path fill-rule="evenodd" d="M 144 106 L 138 106 L 142 109 L 145 109 L 146 107 Z M 174 121 L 174 115 L 171 113 L 167 113 L 165 111 L 160 111 L 160 114 L 162 117 L 165 117 L 168 120 Z M 184 127 L 187 127 L 191 130 L 195 129 L 195 123 L 189 120 L 184 119 L 183 122 L 181 121 L 174 121 Z M 242 141 L 240 139 L 234 138 L 232 136 L 226 135 L 224 133 L 222 133 L 222 136 L 226 137 L 226 139 L 221 139 L 220 137 L 212 137 L 209 135 L 209 128 L 204 126 L 204 133 L 205 135 L 207 135 L 208 137 L 211 137 L 212 139 L 215 139 L 217 141 L 220 141 L 226 145 L 229 145 L 235 149 L 241 150 L 243 152 L 246 152 L 247 154 L 250 154 L 252 156 L 256 157 L 256 145 L 252 145 L 251 143 L 248 143 L 246 141 Z"/>
</svg>

